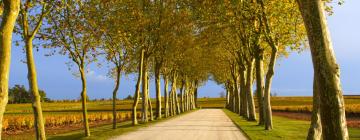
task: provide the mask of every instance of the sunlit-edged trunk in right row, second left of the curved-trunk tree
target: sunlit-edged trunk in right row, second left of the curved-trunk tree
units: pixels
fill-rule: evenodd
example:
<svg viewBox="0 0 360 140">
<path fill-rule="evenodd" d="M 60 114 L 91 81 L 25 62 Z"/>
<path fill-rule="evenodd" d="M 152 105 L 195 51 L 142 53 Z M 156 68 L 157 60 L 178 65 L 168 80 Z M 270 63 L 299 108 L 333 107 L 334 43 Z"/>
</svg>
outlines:
<svg viewBox="0 0 360 140">
<path fill-rule="evenodd" d="M 255 121 L 256 120 L 256 114 L 255 114 L 255 103 L 254 103 L 254 97 L 252 93 L 252 84 L 253 84 L 253 68 L 254 68 L 254 59 L 251 59 L 251 61 L 247 64 L 247 74 L 246 74 L 246 97 L 247 97 L 247 103 L 249 108 L 249 121 Z"/>
</svg>

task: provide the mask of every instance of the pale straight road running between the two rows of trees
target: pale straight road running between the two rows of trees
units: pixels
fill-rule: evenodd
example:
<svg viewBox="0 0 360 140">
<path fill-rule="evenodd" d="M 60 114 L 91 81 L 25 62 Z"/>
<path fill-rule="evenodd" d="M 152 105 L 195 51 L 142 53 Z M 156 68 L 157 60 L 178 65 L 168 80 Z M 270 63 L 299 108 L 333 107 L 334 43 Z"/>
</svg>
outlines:
<svg viewBox="0 0 360 140">
<path fill-rule="evenodd" d="M 201 109 L 114 140 L 246 140 L 221 109 Z"/>
</svg>

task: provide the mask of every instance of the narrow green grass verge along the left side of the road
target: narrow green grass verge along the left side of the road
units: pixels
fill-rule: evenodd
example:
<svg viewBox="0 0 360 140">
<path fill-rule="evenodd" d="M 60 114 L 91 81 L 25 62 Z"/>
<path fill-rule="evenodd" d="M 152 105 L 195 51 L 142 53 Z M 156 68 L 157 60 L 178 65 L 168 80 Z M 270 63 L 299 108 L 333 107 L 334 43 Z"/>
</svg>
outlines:
<svg viewBox="0 0 360 140">
<path fill-rule="evenodd" d="M 149 123 L 140 123 L 139 125 L 133 126 L 131 121 L 126 121 L 117 124 L 117 129 L 112 129 L 112 124 L 104 125 L 100 127 L 91 128 L 91 136 L 84 137 L 84 130 L 77 130 L 70 133 L 58 134 L 54 136 L 50 136 L 49 140 L 107 140 L 109 138 L 122 135 L 124 133 L 132 132 L 138 130 L 140 128 L 148 127 L 150 125 L 154 125 L 159 122 L 163 122 L 166 120 L 174 119 L 180 117 L 182 115 L 188 114 L 196 110 L 184 112 L 180 115 L 163 118 L 160 120 L 149 121 Z"/>
</svg>

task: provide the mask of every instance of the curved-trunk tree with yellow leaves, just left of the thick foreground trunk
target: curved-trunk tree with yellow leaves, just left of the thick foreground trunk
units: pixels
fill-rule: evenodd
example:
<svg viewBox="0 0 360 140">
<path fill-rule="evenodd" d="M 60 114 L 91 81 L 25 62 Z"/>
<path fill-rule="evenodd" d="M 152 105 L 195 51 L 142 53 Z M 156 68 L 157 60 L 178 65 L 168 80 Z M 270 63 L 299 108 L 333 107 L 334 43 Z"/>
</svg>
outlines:
<svg viewBox="0 0 360 140">
<path fill-rule="evenodd" d="M 301 14 L 294 10 L 296 3 L 292 1 L 270 2 L 257 1 L 260 6 L 259 22 L 263 27 L 264 41 L 271 49 L 265 79 L 264 91 L 264 121 L 265 129 L 271 130 L 272 111 L 270 105 L 270 92 L 272 78 L 275 73 L 275 64 L 278 56 L 287 55 L 287 50 L 299 50 L 305 38 L 304 24 Z M 291 15 L 287 13 L 292 13 Z M 291 25 L 294 24 L 294 25 Z M 266 51 L 266 48 L 265 48 Z"/>
</svg>

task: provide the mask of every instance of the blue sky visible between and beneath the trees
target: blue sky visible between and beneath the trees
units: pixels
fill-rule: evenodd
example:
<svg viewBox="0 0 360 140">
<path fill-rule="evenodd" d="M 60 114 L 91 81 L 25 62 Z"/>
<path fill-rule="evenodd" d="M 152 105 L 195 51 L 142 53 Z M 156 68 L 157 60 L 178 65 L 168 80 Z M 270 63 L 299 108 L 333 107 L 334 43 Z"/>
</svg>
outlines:
<svg viewBox="0 0 360 140">
<path fill-rule="evenodd" d="M 334 7 L 334 14 L 328 17 L 335 55 L 341 70 L 341 85 L 346 95 L 360 94 L 360 5 L 359 0 L 346 0 L 341 6 Z M 20 40 L 14 36 L 14 40 Z M 21 46 L 13 45 L 10 68 L 10 87 L 16 84 L 28 88 L 27 67 L 23 62 L 25 53 Z M 34 51 L 38 74 L 38 84 L 51 99 L 78 99 L 81 92 L 81 80 L 73 73 L 75 68 L 66 65 L 67 56 L 45 56 L 48 50 Z M 107 62 L 101 62 L 106 65 Z M 96 64 L 88 68 L 88 96 L 111 98 L 113 79 L 107 76 L 108 67 Z M 119 98 L 133 95 L 136 75 L 121 79 Z M 276 65 L 272 92 L 278 96 L 311 96 L 313 69 L 309 50 L 291 53 L 288 58 L 280 58 Z M 150 95 L 155 96 L 154 79 L 150 82 Z M 163 83 L 162 83 L 163 85 Z M 225 91 L 221 85 L 208 81 L 199 88 L 199 97 L 218 97 Z"/>
</svg>

